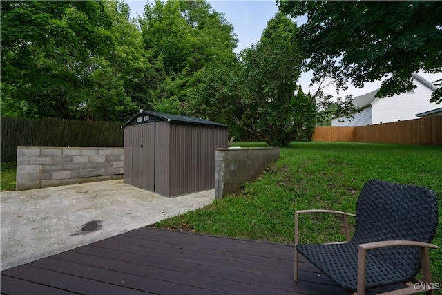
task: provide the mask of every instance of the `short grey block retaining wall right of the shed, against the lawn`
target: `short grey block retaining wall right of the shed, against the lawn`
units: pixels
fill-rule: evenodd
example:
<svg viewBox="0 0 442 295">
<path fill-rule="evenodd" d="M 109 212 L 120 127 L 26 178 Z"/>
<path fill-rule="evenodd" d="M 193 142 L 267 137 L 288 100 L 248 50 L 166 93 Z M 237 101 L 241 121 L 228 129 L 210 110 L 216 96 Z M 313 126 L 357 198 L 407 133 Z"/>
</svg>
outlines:
<svg viewBox="0 0 442 295">
<path fill-rule="evenodd" d="M 215 198 L 222 198 L 242 183 L 258 178 L 266 166 L 279 157 L 277 148 L 216 149 Z"/>
</svg>

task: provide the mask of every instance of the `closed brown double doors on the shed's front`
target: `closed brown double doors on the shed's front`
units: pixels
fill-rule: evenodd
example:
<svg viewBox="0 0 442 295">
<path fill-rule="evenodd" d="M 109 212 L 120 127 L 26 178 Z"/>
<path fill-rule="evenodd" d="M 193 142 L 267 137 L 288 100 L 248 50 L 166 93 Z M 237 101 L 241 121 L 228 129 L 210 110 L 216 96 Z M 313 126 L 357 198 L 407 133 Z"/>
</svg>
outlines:
<svg viewBox="0 0 442 295">
<path fill-rule="evenodd" d="M 133 126 L 132 184 L 154 191 L 155 123 Z"/>
</svg>

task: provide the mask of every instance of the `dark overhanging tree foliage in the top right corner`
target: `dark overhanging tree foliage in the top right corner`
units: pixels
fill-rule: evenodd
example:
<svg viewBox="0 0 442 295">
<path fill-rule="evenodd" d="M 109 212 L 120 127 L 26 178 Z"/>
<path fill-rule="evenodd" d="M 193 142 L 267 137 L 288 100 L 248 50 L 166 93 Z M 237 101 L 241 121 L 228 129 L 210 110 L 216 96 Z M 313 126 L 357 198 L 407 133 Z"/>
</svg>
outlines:
<svg viewBox="0 0 442 295">
<path fill-rule="evenodd" d="M 285 1 L 281 12 L 307 23 L 296 36 L 314 77 L 332 77 L 338 88 L 387 77 L 377 97 L 415 88 L 412 73 L 442 71 L 442 5 L 437 1 Z M 442 79 L 439 80 L 439 85 Z M 442 101 L 442 89 L 432 94 Z"/>
</svg>

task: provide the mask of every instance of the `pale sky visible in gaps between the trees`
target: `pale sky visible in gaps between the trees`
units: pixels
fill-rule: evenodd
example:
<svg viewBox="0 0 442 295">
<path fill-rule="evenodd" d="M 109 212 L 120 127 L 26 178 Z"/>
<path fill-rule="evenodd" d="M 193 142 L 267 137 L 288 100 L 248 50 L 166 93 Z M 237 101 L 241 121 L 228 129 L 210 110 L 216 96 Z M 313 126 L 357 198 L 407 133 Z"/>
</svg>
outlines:
<svg viewBox="0 0 442 295">
<path fill-rule="evenodd" d="M 137 14 L 143 15 L 147 0 L 125 0 L 125 2 L 131 8 L 131 17 L 136 17 Z M 214 10 L 224 13 L 227 21 L 233 25 L 233 32 L 238 38 L 238 47 L 235 49 L 236 53 L 240 53 L 244 48 L 260 41 L 262 31 L 267 27 L 267 21 L 278 12 L 278 6 L 276 6 L 276 1 L 274 0 L 215 0 L 208 2 Z M 296 21 L 298 25 L 301 25 L 307 21 L 307 18 L 300 17 Z M 442 73 L 427 74 L 419 72 L 419 75 L 430 82 L 442 79 Z M 305 93 L 308 90 L 311 92 L 315 90 L 314 88 L 309 88 L 311 76 L 311 72 L 303 73 L 299 79 L 302 90 Z M 345 97 L 350 94 L 356 97 L 374 91 L 379 86 L 381 86 L 381 82 L 366 83 L 364 88 L 355 88 L 349 84 L 347 91 L 340 91 L 340 93 L 336 93 L 336 89 L 330 86 L 325 92 L 334 95 L 334 97 Z"/>
</svg>

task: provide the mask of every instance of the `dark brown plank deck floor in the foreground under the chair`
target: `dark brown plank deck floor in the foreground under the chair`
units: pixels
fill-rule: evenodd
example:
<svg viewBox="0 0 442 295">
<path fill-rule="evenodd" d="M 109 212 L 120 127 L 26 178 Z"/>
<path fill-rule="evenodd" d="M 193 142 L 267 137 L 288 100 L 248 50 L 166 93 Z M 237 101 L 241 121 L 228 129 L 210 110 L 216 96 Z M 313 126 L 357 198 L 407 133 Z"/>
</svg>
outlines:
<svg viewBox="0 0 442 295">
<path fill-rule="evenodd" d="M 293 245 L 143 227 L 1 272 L 1 294 L 347 294 Z M 383 289 L 385 291 L 385 289 Z"/>
</svg>

